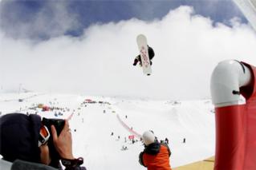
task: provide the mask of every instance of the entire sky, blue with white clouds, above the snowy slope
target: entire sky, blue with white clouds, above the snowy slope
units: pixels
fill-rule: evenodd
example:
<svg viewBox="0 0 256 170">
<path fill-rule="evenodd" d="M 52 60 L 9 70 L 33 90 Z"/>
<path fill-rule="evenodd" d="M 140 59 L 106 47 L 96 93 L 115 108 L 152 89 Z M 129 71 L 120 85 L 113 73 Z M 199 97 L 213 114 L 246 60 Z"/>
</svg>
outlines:
<svg viewBox="0 0 256 170">
<path fill-rule="evenodd" d="M 144 10 L 141 10 L 144 9 Z M 256 65 L 256 35 L 232 1 L 0 1 L 0 93 L 210 97 L 219 61 Z M 152 75 L 132 62 L 136 36 Z"/>
</svg>

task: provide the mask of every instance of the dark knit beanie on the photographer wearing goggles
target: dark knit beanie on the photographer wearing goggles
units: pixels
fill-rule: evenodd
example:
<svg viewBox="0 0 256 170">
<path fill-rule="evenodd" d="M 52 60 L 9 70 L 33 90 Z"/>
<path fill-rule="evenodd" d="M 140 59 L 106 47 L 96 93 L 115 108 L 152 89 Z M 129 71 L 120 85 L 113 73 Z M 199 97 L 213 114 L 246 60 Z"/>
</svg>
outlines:
<svg viewBox="0 0 256 170">
<path fill-rule="evenodd" d="M 0 117 L 0 154 L 4 160 L 40 162 L 41 117 L 10 113 Z"/>
</svg>

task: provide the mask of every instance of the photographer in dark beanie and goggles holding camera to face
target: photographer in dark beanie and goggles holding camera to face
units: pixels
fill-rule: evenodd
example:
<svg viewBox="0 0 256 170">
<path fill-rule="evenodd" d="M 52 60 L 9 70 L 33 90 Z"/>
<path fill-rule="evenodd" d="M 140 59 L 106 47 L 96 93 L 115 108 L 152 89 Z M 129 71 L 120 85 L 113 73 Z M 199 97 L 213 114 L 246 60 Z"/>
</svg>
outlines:
<svg viewBox="0 0 256 170">
<path fill-rule="evenodd" d="M 73 156 L 68 121 L 41 121 L 33 114 L 10 113 L 0 117 L 0 154 L 10 162 L 25 160 L 62 169 L 61 160 L 66 170 L 86 170 L 80 167 L 83 158 Z"/>
</svg>

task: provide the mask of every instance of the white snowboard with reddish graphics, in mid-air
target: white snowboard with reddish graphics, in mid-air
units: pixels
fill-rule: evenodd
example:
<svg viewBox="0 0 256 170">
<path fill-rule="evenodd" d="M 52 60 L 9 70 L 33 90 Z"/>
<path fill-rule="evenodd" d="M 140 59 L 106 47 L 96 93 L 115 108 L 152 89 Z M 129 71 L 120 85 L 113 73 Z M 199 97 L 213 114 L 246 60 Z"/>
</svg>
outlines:
<svg viewBox="0 0 256 170">
<path fill-rule="evenodd" d="M 147 38 L 144 36 L 144 34 L 140 34 L 137 36 L 136 41 L 140 51 L 140 58 L 141 58 L 143 73 L 149 76 L 152 73 L 152 69 L 151 69 L 150 60 L 148 57 Z"/>
</svg>

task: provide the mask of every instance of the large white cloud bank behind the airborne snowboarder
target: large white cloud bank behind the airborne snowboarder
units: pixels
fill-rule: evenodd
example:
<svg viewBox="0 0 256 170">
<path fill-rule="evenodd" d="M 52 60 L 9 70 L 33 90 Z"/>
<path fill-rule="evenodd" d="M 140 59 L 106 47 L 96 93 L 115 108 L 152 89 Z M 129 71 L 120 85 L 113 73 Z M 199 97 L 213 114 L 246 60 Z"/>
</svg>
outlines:
<svg viewBox="0 0 256 170">
<path fill-rule="evenodd" d="M 57 93 L 209 97 L 210 76 L 219 61 L 234 58 L 256 65 L 255 33 L 234 21 L 232 28 L 213 27 L 209 18 L 182 6 L 160 21 L 95 25 L 82 38 L 51 38 L 37 45 L 1 34 L 0 85 Z M 141 33 L 156 53 L 150 77 L 132 66 Z"/>
</svg>

